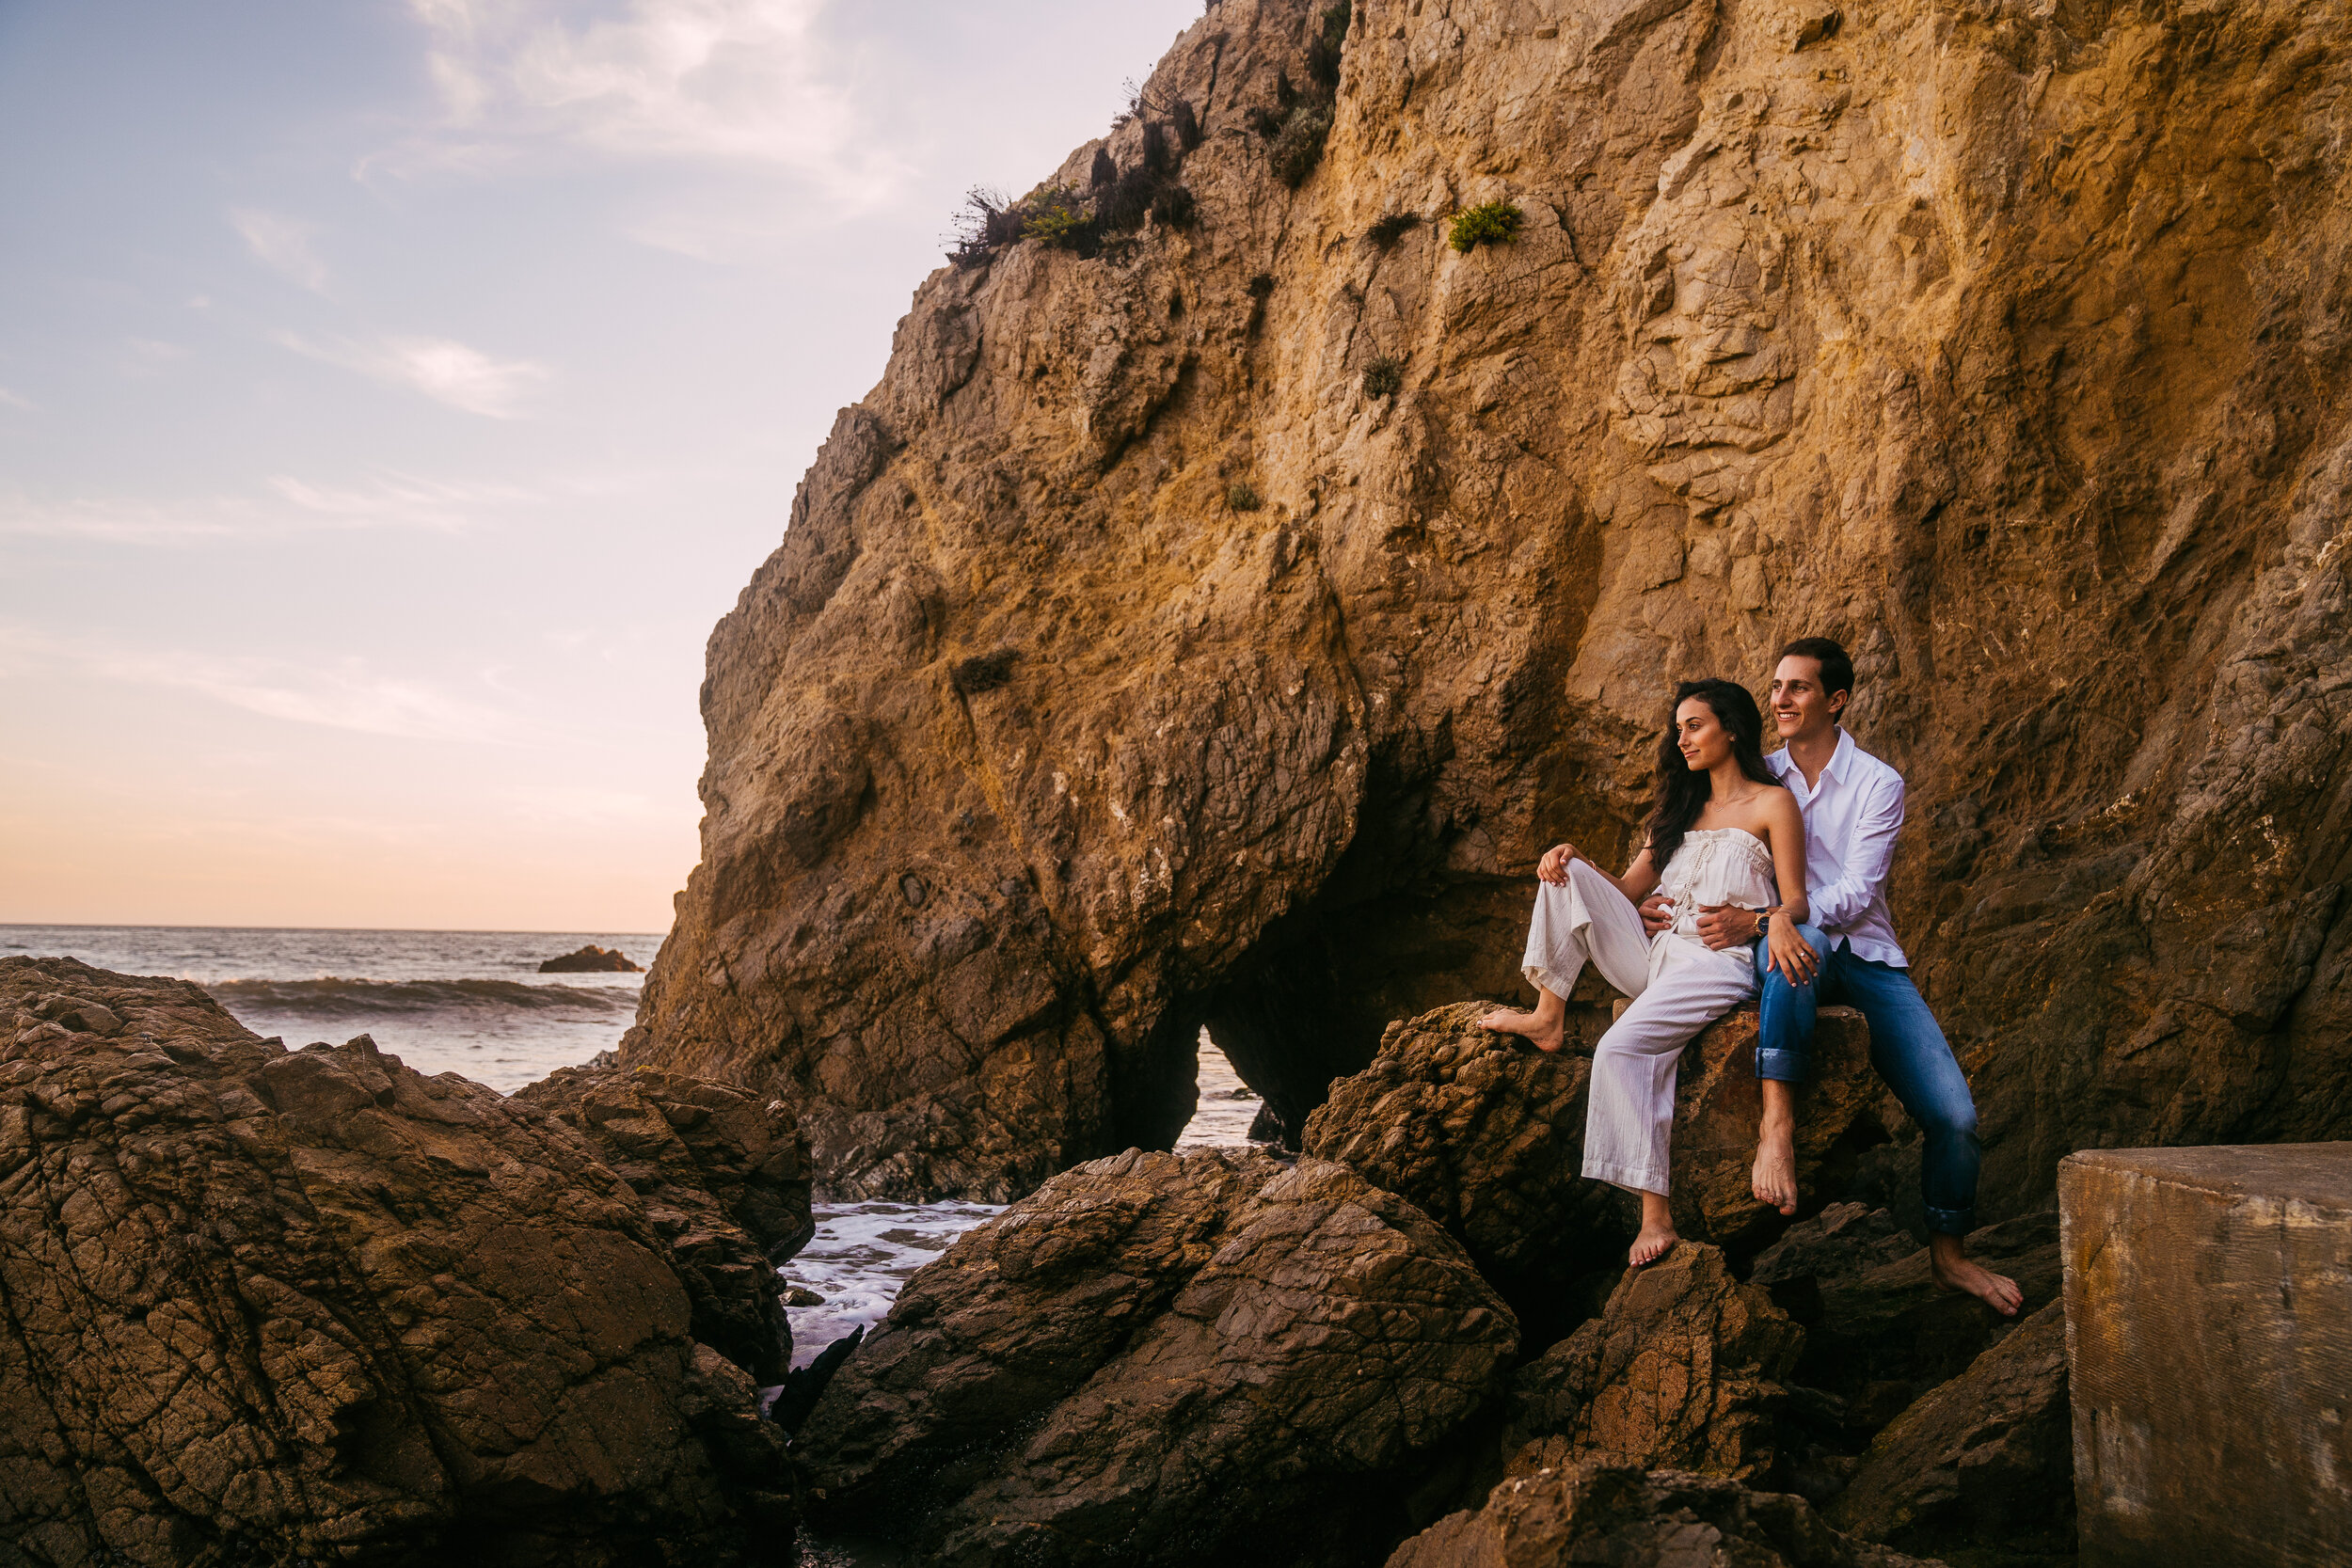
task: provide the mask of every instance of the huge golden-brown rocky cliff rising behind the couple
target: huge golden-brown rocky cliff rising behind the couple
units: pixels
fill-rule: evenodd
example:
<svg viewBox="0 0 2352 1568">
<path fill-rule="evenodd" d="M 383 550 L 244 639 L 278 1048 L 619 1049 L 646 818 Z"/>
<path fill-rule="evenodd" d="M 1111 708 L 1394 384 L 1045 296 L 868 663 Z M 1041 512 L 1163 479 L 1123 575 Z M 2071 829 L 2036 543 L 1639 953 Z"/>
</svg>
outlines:
<svg viewBox="0 0 2352 1568">
<path fill-rule="evenodd" d="M 1202 1023 L 1296 1128 L 1515 985 L 1675 679 L 1828 632 L 1987 1218 L 2343 1135 L 2347 24 L 1211 5 L 917 289 L 713 635 L 623 1056 L 793 1098 L 842 1192 L 1164 1143 Z"/>
</svg>

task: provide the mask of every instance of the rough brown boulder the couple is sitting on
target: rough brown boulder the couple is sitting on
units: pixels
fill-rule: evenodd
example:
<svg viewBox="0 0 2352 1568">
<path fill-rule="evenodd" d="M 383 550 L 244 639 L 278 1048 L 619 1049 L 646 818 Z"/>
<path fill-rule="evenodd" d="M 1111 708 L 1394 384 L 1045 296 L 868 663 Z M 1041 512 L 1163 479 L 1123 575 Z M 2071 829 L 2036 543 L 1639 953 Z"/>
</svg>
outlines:
<svg viewBox="0 0 2352 1568">
<path fill-rule="evenodd" d="M 1484 1011 L 1463 1001 L 1392 1023 L 1374 1063 L 1308 1117 L 1303 1143 L 1444 1225 L 1515 1307 L 1548 1319 L 1548 1305 L 1578 1295 L 1590 1272 L 1623 1267 L 1635 1208 L 1583 1178 L 1590 1058 L 1479 1030 Z M 1879 1093 L 1860 1016 L 1823 1009 L 1799 1103 L 1797 1178 L 1809 1199 L 1835 1187 L 1858 1143 L 1884 1138 Z M 1672 1145 L 1684 1237 L 1740 1244 L 1783 1225 L 1750 1192 L 1759 1117 L 1755 1011 L 1743 1009 L 1684 1048 Z"/>
</svg>

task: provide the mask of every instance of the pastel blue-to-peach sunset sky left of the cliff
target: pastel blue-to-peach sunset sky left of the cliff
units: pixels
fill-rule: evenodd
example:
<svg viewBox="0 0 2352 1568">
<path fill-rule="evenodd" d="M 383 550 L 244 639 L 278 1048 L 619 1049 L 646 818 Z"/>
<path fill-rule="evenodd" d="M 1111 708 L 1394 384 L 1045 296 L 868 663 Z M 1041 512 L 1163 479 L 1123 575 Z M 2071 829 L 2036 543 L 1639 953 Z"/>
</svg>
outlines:
<svg viewBox="0 0 2352 1568">
<path fill-rule="evenodd" d="M 0 0 L 0 922 L 663 931 L 703 642 L 1200 0 Z"/>
</svg>

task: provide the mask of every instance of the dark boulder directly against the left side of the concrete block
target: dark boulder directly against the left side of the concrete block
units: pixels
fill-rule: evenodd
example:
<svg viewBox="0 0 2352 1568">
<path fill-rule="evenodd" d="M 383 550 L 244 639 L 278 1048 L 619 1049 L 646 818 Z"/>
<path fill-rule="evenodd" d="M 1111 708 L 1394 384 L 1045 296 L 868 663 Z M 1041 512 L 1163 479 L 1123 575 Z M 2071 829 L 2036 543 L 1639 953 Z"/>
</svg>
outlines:
<svg viewBox="0 0 2352 1568">
<path fill-rule="evenodd" d="M 2042 1307 L 1903 1410 L 1828 1516 L 1907 1552 L 2072 1554 L 2065 1305 Z"/>
</svg>

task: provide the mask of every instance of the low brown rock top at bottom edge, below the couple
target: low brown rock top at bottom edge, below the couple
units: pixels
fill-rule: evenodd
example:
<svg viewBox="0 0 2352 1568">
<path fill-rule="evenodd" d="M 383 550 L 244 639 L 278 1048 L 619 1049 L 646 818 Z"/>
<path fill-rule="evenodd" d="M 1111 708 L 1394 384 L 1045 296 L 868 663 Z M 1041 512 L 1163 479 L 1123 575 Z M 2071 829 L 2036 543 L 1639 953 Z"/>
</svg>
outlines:
<svg viewBox="0 0 2352 1568">
<path fill-rule="evenodd" d="M 1541 1469 L 1449 1514 L 1395 1549 L 1388 1568 L 1919 1568 L 1851 1540 L 1804 1497 L 1738 1481 L 1609 1465 Z"/>
</svg>

